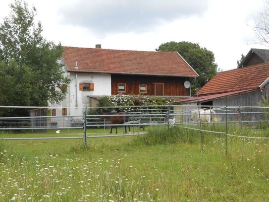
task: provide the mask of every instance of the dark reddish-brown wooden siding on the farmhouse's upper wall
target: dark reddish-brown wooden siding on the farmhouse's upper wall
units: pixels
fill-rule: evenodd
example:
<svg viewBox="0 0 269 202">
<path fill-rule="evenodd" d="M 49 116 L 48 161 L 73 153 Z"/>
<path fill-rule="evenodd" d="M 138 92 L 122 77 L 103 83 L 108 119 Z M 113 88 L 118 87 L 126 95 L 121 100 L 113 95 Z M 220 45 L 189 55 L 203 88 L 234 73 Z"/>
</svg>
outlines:
<svg viewBox="0 0 269 202">
<path fill-rule="evenodd" d="M 111 93 L 118 94 L 118 84 L 126 84 L 126 95 L 139 95 L 139 85 L 147 85 L 147 93 L 143 95 L 155 95 L 155 83 L 163 83 L 164 96 L 189 96 L 190 91 L 184 87 L 185 77 L 162 77 L 162 76 L 137 76 L 137 75 L 111 75 Z"/>
</svg>

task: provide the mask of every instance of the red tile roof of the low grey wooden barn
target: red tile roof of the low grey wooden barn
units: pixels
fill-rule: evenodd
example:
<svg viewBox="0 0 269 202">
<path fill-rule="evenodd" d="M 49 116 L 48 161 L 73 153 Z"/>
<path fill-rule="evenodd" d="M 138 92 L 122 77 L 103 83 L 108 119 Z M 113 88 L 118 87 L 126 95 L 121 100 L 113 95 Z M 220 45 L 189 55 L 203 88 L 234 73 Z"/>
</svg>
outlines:
<svg viewBox="0 0 269 202">
<path fill-rule="evenodd" d="M 257 89 L 267 78 L 269 78 L 269 63 L 223 71 L 204 85 L 198 91 L 198 96 Z"/>
</svg>

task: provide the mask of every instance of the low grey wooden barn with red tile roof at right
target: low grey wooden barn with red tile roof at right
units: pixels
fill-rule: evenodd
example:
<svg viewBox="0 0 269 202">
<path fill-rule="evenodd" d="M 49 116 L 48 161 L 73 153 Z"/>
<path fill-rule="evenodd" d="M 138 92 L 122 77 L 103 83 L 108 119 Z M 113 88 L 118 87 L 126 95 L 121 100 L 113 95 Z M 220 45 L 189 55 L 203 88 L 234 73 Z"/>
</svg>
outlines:
<svg viewBox="0 0 269 202">
<path fill-rule="evenodd" d="M 223 71 L 198 96 L 175 104 L 202 106 L 258 106 L 269 95 L 269 63 Z"/>
</svg>

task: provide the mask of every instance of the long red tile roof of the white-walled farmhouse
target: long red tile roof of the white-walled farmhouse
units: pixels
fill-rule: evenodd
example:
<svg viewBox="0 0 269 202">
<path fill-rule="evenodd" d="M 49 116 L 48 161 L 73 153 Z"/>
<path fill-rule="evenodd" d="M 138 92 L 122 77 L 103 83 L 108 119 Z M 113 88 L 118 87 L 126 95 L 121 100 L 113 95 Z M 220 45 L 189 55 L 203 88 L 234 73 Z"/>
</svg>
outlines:
<svg viewBox="0 0 269 202">
<path fill-rule="evenodd" d="M 67 71 L 197 77 L 177 52 L 64 47 Z M 78 68 L 75 68 L 77 61 Z"/>
</svg>

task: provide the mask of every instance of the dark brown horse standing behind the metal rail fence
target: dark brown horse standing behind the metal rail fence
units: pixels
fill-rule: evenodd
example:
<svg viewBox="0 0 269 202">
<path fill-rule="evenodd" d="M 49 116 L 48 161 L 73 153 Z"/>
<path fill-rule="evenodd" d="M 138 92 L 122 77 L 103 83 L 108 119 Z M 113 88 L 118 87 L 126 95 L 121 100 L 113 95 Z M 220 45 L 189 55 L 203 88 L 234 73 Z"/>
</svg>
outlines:
<svg viewBox="0 0 269 202">
<path fill-rule="evenodd" d="M 100 119 L 106 119 L 108 121 L 111 122 L 111 124 L 124 124 L 126 122 L 129 121 L 129 117 L 128 116 L 119 116 L 119 115 L 127 115 L 126 112 L 108 112 L 108 113 L 103 113 L 104 115 L 116 115 L 116 116 L 102 116 L 100 117 Z M 112 133 L 112 128 L 113 126 L 111 126 L 111 130 L 110 130 L 110 134 Z M 126 129 L 126 126 L 124 125 L 124 128 L 125 128 L 125 133 L 127 133 L 127 129 Z M 129 128 L 129 132 L 130 132 L 130 126 L 128 126 Z M 116 134 L 118 133 L 117 132 L 117 126 L 115 126 L 115 129 L 116 129 Z"/>
</svg>

